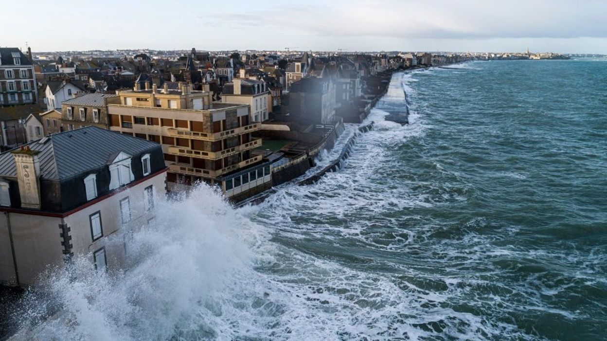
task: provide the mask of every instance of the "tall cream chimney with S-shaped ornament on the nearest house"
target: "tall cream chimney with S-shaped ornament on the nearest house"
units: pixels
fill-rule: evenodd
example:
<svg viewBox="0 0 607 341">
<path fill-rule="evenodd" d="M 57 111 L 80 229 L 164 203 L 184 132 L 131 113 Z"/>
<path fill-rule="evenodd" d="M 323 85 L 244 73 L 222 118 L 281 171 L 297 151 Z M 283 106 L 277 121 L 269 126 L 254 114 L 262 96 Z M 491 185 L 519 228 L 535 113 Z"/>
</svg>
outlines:
<svg viewBox="0 0 607 341">
<path fill-rule="evenodd" d="M 40 209 L 40 160 L 39 151 L 31 150 L 29 146 L 21 147 L 11 152 L 15 158 L 17 182 L 21 207 Z"/>
</svg>

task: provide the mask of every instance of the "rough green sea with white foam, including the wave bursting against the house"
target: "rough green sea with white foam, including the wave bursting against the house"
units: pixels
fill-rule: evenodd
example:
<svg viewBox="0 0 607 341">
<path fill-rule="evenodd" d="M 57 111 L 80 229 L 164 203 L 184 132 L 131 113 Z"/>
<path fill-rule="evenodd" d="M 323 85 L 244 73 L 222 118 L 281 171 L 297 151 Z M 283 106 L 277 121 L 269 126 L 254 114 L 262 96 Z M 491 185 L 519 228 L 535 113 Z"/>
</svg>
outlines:
<svg viewBox="0 0 607 341">
<path fill-rule="evenodd" d="M 131 267 L 50 271 L 18 339 L 607 340 L 607 59 L 398 72 L 370 121 L 316 184 L 158 203 Z"/>
</svg>

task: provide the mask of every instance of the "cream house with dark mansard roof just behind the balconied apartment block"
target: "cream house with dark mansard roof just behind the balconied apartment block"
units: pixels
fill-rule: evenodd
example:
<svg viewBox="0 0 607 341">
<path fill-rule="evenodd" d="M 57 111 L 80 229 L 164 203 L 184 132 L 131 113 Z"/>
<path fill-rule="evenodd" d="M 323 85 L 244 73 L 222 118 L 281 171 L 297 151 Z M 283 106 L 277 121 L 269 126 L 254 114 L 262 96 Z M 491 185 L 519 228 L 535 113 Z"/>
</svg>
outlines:
<svg viewBox="0 0 607 341">
<path fill-rule="evenodd" d="M 223 86 L 222 102 L 247 104 L 251 108 L 250 120 L 262 122 L 269 118 L 272 103 L 270 96 L 270 90 L 264 81 L 234 78 L 232 83 Z"/>
</svg>

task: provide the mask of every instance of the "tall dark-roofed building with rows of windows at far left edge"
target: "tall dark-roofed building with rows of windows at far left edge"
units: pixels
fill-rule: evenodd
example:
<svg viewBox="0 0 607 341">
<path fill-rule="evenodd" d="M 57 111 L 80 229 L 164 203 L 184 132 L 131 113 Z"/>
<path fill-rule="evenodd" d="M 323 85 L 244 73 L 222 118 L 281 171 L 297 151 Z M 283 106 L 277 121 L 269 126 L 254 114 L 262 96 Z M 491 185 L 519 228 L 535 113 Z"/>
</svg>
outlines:
<svg viewBox="0 0 607 341">
<path fill-rule="evenodd" d="M 0 107 L 37 101 L 32 61 L 16 47 L 0 48 Z"/>
</svg>

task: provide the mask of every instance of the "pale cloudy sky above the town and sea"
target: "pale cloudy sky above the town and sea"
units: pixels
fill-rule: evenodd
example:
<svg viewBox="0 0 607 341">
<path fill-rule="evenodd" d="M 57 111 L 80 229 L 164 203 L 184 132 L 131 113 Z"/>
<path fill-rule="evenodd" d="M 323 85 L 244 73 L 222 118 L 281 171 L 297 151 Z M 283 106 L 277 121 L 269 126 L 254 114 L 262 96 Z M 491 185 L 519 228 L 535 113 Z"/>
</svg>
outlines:
<svg viewBox="0 0 607 341">
<path fill-rule="evenodd" d="M 3 16 L 1 46 L 607 54 L 607 0 L 0 0 L 0 8 L 19 13 L 25 3 L 27 16 Z"/>
</svg>

